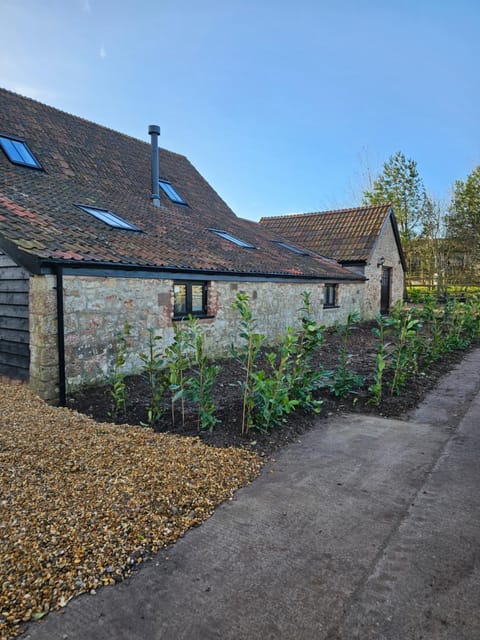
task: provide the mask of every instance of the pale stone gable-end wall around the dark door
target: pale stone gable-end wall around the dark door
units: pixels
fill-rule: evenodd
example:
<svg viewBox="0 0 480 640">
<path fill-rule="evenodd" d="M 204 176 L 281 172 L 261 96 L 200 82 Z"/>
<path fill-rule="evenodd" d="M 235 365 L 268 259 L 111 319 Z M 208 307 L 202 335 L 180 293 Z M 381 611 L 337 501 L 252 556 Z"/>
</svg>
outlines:
<svg viewBox="0 0 480 640">
<path fill-rule="evenodd" d="M 371 260 L 365 267 L 365 276 L 368 278 L 365 285 L 365 307 L 363 317 L 367 320 L 374 318 L 380 312 L 380 281 L 382 268 L 377 267 L 380 258 L 385 258 L 385 267 L 391 267 L 391 298 L 390 306 L 403 299 L 404 272 L 398 253 L 395 235 L 390 219 L 383 233 L 380 235 L 377 245 L 372 252 Z"/>
</svg>

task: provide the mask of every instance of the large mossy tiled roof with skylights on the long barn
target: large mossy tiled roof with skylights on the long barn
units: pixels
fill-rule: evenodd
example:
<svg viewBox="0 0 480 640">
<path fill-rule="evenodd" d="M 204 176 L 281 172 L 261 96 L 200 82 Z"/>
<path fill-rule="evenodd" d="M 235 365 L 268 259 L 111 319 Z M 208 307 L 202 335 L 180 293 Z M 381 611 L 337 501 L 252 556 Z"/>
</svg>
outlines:
<svg viewBox="0 0 480 640">
<path fill-rule="evenodd" d="M 149 142 L 3 89 L 0 134 L 24 139 L 44 169 L 12 164 L 0 151 L 0 241 L 40 261 L 355 279 L 335 261 L 279 247 L 274 240 L 283 238 L 238 218 L 182 155 L 160 149 L 160 176 L 188 206 L 160 192 L 157 208 L 150 201 Z M 112 228 L 75 203 L 109 209 L 141 232 Z"/>
</svg>

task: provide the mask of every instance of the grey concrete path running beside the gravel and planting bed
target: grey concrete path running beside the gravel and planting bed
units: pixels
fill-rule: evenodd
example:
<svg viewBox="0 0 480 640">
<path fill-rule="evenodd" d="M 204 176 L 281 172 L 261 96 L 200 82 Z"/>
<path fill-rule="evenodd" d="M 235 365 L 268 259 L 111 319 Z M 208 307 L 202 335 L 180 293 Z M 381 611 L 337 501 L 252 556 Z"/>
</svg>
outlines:
<svg viewBox="0 0 480 640">
<path fill-rule="evenodd" d="M 336 417 L 29 640 L 478 640 L 480 350 L 404 420 Z"/>
</svg>

